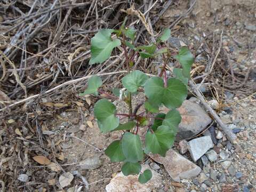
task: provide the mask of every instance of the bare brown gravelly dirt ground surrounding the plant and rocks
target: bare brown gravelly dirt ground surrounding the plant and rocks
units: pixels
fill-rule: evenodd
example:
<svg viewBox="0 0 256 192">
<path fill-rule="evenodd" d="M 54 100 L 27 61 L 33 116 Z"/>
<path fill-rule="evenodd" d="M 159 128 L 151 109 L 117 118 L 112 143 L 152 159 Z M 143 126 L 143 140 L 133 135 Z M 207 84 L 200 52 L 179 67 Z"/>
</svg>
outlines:
<svg viewBox="0 0 256 192">
<path fill-rule="evenodd" d="M 186 13 L 189 7 L 188 1 L 174 1 L 175 3 L 170 6 L 167 12 L 164 14 L 161 21 L 157 23 L 156 28 L 169 26 L 175 21 L 179 15 Z M 221 31 L 222 43 L 224 49 L 229 53 L 230 63 L 234 69 L 234 73 L 241 73 L 246 76 L 246 72 L 249 68 L 256 65 L 256 29 L 247 30 L 245 26 L 256 25 L 256 1 L 210 1 L 200 0 L 194 6 L 192 12 L 185 17 L 178 25 L 172 29 L 172 36 L 178 37 L 185 44 L 192 47 L 193 54 L 202 57 L 206 57 L 202 51 L 209 51 L 209 54 L 217 50 L 218 47 L 210 46 L 215 39 L 219 38 Z M 204 47 L 204 43 L 209 44 L 209 47 Z M 202 46 L 203 45 L 203 46 Z M 222 53 L 221 53 L 222 54 Z M 225 58 L 225 57 L 221 57 Z M 225 59 L 220 59 L 218 65 L 227 65 Z M 202 63 L 202 61 L 198 61 Z M 197 63 L 197 64 L 198 64 Z M 198 64 L 199 65 L 199 64 Z M 250 82 L 256 81 L 256 69 L 252 68 L 250 73 Z M 254 70 L 254 72 L 253 72 Z M 196 76 L 196 75 L 195 75 Z M 194 76 L 194 77 L 195 77 Z M 231 81 L 231 77 L 226 77 Z M 254 79 L 254 80 L 253 80 Z M 223 80 L 223 79 L 222 79 Z M 243 127 L 243 131 L 246 131 L 249 136 L 246 137 L 243 134 L 238 133 L 238 144 L 234 148 L 235 152 L 233 157 L 234 166 L 239 171 L 243 172 L 243 180 L 241 183 L 235 183 L 235 180 L 229 181 L 230 184 L 237 185 L 236 191 L 243 191 L 244 187 L 248 183 L 254 182 L 256 186 L 256 157 L 255 157 L 255 145 L 256 145 L 256 100 L 255 95 L 243 99 L 251 94 L 250 87 L 247 90 L 229 89 L 223 87 L 223 81 L 219 81 L 218 78 L 213 79 L 211 83 L 214 84 L 215 89 L 218 90 L 214 94 L 208 94 L 207 98 L 215 97 L 220 99 L 221 102 L 228 104 L 233 111 L 230 115 L 230 121 L 234 122 L 235 119 L 239 119 L 237 126 Z M 117 84 L 116 84 L 117 85 Z M 254 84 L 255 85 L 255 84 Z M 246 88 L 245 88 L 246 89 Z M 229 91 L 230 94 L 234 94 L 229 100 L 221 97 L 216 93 L 220 93 L 219 90 Z M 247 91 L 247 92 L 246 92 Z M 73 93 L 77 95 L 77 93 Z M 48 100 L 49 98 L 43 98 Z M 59 172 L 52 172 L 43 166 L 38 166 L 29 154 L 30 150 L 34 150 L 37 154 L 48 154 L 48 158 L 58 159 L 58 154 L 63 156 L 63 159 L 58 159 L 58 163 L 62 166 L 62 169 L 66 172 L 79 171 L 86 178 L 89 183 L 89 191 L 105 191 L 106 185 L 116 173 L 121 171 L 120 163 L 110 163 L 109 158 L 102 153 L 104 149 L 113 141 L 120 137 L 118 133 L 102 134 L 98 128 L 97 122 L 93 116 L 93 103 L 97 101 L 97 98 L 92 96 L 87 98 L 70 97 L 68 102 L 69 106 L 63 106 L 58 108 L 57 111 L 51 113 L 49 106 L 41 106 L 41 109 L 49 110 L 47 117 L 38 119 L 38 124 L 41 124 L 43 131 L 52 131 L 54 134 L 49 135 L 48 142 L 44 142 L 45 148 L 41 148 L 41 140 L 33 138 L 31 141 L 29 127 L 19 126 L 17 122 L 14 122 L 7 126 L 7 130 L 10 134 L 15 134 L 16 127 L 19 128 L 21 135 L 18 140 L 13 140 L 13 148 L 11 150 L 17 151 L 17 161 L 12 157 L 4 157 L 4 146 L 1 149 L 1 170 L 7 166 L 14 167 L 16 175 L 26 173 L 30 175 L 30 184 L 24 185 L 17 178 L 14 178 L 12 186 L 8 187 L 6 191 L 34 191 L 34 189 L 48 188 L 47 181 L 55 179 L 56 183 L 50 187 L 47 191 L 60 191 L 57 184 L 59 178 Z M 141 95 L 136 95 L 133 99 L 134 103 L 139 103 L 143 100 Z M 39 103 L 44 100 L 39 101 Z M 117 103 L 119 110 L 123 110 L 125 103 Z M 219 111 L 221 113 L 222 110 Z M 45 115 L 45 114 L 44 114 Z M 8 119 L 8 118 L 6 118 Z M 5 120 L 6 120 L 5 119 Z M 7 121 L 7 120 L 6 120 Z M 91 125 L 92 123 L 92 125 Z M 0 130 L 1 140 L 3 142 L 4 131 Z M 17 134 L 17 132 L 16 132 Z M 33 136 L 35 137 L 35 136 Z M 42 139 L 42 138 L 41 138 Z M 177 145 L 176 145 L 177 146 Z M 19 149 L 22 151 L 19 152 Z M 48 149 L 45 151 L 45 149 Z M 62 154 L 63 153 L 63 154 Z M 241 154 L 242 153 L 242 154 Z M 52 154 L 55 154 L 54 156 Z M 244 154 L 244 156 L 243 156 Z M 251 158 L 246 157 L 247 154 L 251 154 Z M 94 170 L 82 170 L 78 166 L 78 163 L 89 157 L 99 157 L 101 159 L 101 165 Z M 243 158 L 242 158 L 243 157 Z M 154 162 L 150 158 L 146 158 L 144 163 Z M 175 191 L 174 186 L 171 185 L 172 179 L 164 170 L 162 165 L 158 173 L 163 175 L 163 181 L 161 188 L 156 191 Z M 217 165 L 217 170 L 221 169 Z M 12 175 L 10 172 L 6 174 Z M 83 181 L 81 178 L 75 177 L 70 187 L 81 184 Z M 221 191 L 222 189 L 214 189 L 213 186 L 203 190 L 201 186 L 195 185 L 191 180 L 183 180 L 182 185 L 185 191 Z M 48 188 L 49 189 L 49 188 Z M 39 190 L 38 190 L 39 191 Z M 42 190 L 43 191 L 43 190 Z M 224 191 L 224 190 L 222 190 Z M 234 189 L 235 191 L 235 189 Z M 250 191 L 256 191 L 255 188 L 251 188 Z"/>
</svg>

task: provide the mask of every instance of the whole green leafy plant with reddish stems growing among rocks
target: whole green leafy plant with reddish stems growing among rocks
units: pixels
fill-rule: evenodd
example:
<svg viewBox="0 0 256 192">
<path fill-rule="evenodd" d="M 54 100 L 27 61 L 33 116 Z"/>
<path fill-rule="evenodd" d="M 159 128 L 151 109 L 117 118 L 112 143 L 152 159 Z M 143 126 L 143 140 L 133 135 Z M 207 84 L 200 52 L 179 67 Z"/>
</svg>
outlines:
<svg viewBox="0 0 256 192">
<path fill-rule="evenodd" d="M 115 47 L 123 47 L 127 75 L 122 78 L 122 84 L 126 91 L 115 89 L 113 90 L 115 96 L 109 93 L 105 93 L 105 96 L 109 99 L 123 99 L 128 105 L 129 114 L 118 114 L 112 102 L 100 99 L 94 105 L 94 115 L 103 133 L 122 131 L 121 138 L 113 141 L 105 150 L 111 162 L 124 162 L 122 166 L 124 175 L 140 174 L 139 181 L 146 183 L 152 177 L 152 173 L 150 170 L 142 173 L 139 162 L 143 161 L 145 154 L 148 153 L 165 156 L 166 151 L 172 147 L 181 121 L 179 111 L 175 108 L 180 107 L 187 97 L 187 83 L 194 59 L 188 47 L 181 47 L 179 54 L 173 55 L 167 47 L 163 46 L 171 35 L 170 29 L 165 29 L 156 43 L 135 47 L 133 44 L 135 30 L 125 28 L 125 22 L 126 19 L 119 30 L 101 29 L 95 34 L 91 39 L 89 63 L 90 65 L 102 63 L 110 57 Z M 115 39 L 111 38 L 111 34 L 116 34 Z M 126 47 L 130 52 L 127 52 Z M 162 55 L 164 64 L 161 73 L 149 78 L 142 71 L 131 71 L 135 54 L 139 54 L 143 59 Z M 177 59 L 182 68 L 174 68 L 175 77 L 167 78 L 165 68 L 170 58 Z M 93 76 L 89 79 L 87 89 L 80 95 L 104 93 L 98 90 L 101 85 L 100 77 Z M 146 100 L 133 110 L 132 94 L 137 92 L 144 92 Z M 137 114 L 137 110 L 142 105 L 146 110 Z M 159 113 L 159 107 L 162 105 L 170 109 L 167 114 Z M 121 124 L 119 117 L 123 120 L 127 119 L 126 123 Z M 143 144 L 138 134 L 142 126 L 147 127 Z"/>
</svg>

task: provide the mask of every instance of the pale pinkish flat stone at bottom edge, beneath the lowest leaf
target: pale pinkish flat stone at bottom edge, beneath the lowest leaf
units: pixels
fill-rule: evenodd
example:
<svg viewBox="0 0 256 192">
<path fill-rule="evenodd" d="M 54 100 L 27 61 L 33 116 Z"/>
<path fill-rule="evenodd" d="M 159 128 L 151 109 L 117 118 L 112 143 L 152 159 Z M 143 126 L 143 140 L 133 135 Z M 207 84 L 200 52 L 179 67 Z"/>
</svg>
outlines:
<svg viewBox="0 0 256 192">
<path fill-rule="evenodd" d="M 141 172 L 145 170 L 151 170 L 148 165 L 141 165 Z M 107 192 L 151 192 L 161 187 L 162 177 L 159 173 L 151 170 L 152 178 L 141 184 L 138 180 L 139 175 L 125 176 L 122 172 L 117 173 L 116 176 L 111 179 L 110 183 L 106 186 Z"/>
</svg>

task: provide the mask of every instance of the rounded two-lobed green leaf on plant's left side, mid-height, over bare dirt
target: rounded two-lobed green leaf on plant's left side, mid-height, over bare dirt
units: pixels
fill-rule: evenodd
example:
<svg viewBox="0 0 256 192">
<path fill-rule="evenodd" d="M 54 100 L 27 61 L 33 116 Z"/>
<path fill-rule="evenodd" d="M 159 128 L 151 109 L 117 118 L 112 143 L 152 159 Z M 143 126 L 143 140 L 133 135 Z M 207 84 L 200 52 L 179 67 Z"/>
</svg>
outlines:
<svg viewBox="0 0 256 192">
<path fill-rule="evenodd" d="M 102 132 L 106 133 L 116 129 L 119 119 L 115 116 L 116 106 L 107 99 L 101 99 L 94 105 L 94 115 Z"/>
</svg>

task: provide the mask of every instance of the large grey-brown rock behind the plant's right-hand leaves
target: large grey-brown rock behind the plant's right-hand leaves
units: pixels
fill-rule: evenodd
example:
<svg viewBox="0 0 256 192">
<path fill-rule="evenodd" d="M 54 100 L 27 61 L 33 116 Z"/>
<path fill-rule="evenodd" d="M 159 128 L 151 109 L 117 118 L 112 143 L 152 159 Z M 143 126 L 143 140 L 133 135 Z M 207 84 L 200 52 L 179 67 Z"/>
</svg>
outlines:
<svg viewBox="0 0 256 192">
<path fill-rule="evenodd" d="M 185 100 L 178 110 L 182 117 L 177 134 L 178 140 L 195 136 L 212 121 L 200 105 L 189 100 Z"/>
</svg>

